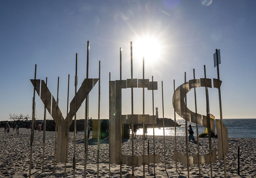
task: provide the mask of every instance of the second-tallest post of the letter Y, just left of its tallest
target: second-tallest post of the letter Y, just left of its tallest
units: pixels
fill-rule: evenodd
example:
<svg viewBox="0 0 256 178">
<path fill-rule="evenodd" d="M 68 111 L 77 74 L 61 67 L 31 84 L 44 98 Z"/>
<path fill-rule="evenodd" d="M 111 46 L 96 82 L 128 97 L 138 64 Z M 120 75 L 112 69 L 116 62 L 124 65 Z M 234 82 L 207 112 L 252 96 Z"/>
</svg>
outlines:
<svg viewBox="0 0 256 178">
<path fill-rule="evenodd" d="M 75 75 L 75 118 L 74 118 L 74 151 L 73 151 L 73 178 L 75 178 L 75 169 L 76 169 L 76 132 L 77 132 L 77 61 L 78 61 L 78 54 L 76 53 L 76 75 Z"/>
</svg>

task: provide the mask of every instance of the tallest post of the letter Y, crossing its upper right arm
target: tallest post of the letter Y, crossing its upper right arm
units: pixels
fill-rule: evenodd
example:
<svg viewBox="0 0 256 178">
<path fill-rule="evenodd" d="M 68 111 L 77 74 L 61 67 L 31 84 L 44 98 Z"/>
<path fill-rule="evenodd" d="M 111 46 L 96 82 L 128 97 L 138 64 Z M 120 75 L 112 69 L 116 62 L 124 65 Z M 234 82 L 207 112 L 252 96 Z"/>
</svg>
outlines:
<svg viewBox="0 0 256 178">
<path fill-rule="evenodd" d="M 87 41 L 87 60 L 86 60 L 86 98 L 85 98 L 85 158 L 84 158 L 84 177 L 86 177 L 86 162 L 87 162 L 87 152 L 88 152 L 88 76 L 89 76 L 89 50 L 90 50 L 90 42 Z"/>
</svg>

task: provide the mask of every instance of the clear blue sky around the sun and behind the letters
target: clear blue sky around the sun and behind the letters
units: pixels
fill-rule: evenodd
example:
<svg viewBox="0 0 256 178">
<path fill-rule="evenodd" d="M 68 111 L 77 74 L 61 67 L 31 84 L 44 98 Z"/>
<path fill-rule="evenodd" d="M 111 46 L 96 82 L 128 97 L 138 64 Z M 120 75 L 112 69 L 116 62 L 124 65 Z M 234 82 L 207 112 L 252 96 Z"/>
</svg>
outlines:
<svg viewBox="0 0 256 178">
<path fill-rule="evenodd" d="M 134 78 L 142 78 L 143 36 L 157 39 L 154 60 L 145 58 L 145 78 L 158 81 L 154 107 L 162 117 L 173 118 L 173 80 L 176 86 L 193 78 L 217 78 L 215 49 L 221 50 L 220 77 L 224 118 L 255 118 L 256 1 L 0 1 L 0 120 L 9 113 L 32 113 L 33 86 L 48 77 L 57 98 L 60 77 L 60 109 L 66 116 L 67 80 L 70 101 L 74 97 L 75 55 L 78 53 L 78 88 L 86 77 L 86 47 L 90 41 L 89 77 L 98 78 L 101 61 L 100 117 L 108 118 L 108 81 L 119 80 L 119 48 L 123 48 L 122 78 L 131 77 L 130 42 L 134 44 Z M 148 42 L 150 43 L 150 42 Z M 137 45 L 137 46 L 136 46 Z M 151 50 L 151 52 L 154 50 Z M 146 55 L 146 54 L 145 54 Z M 219 118 L 218 90 L 209 89 L 210 112 Z M 205 114 L 205 90 L 197 90 L 198 112 Z M 90 93 L 89 117 L 98 117 L 98 85 Z M 131 113 L 131 91 L 123 90 L 123 114 Z M 193 91 L 188 107 L 194 111 Z M 135 89 L 135 114 L 142 114 L 142 89 Z M 43 119 L 43 103 L 36 96 L 37 117 Z M 152 93 L 146 91 L 146 114 L 152 115 Z M 85 116 L 84 104 L 77 118 Z M 49 114 L 47 119 L 51 119 Z"/>
</svg>

